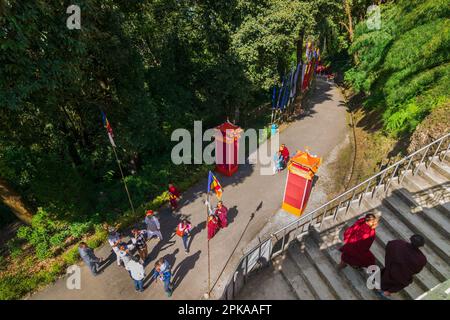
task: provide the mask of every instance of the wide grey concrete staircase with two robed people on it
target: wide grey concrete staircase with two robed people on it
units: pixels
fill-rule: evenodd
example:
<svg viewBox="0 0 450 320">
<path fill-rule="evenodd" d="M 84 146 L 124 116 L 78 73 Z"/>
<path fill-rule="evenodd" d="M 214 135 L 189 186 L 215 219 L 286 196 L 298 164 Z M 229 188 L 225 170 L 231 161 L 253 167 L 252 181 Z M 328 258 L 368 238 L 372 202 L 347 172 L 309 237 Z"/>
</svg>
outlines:
<svg viewBox="0 0 450 320">
<path fill-rule="evenodd" d="M 366 286 L 365 270 L 337 269 L 342 233 L 369 210 L 381 216 L 371 247 L 380 267 L 390 240 L 408 240 L 414 233 L 426 239 L 422 252 L 428 264 L 393 299 L 416 299 L 450 279 L 450 163 L 435 161 L 428 168 L 422 164 L 415 175 L 407 172 L 401 184 L 392 182 L 389 190 L 387 194 L 376 192 L 373 198 L 364 197 L 360 204 L 352 202 L 346 214 L 324 221 L 320 232 L 319 225 L 310 227 L 306 235 L 292 241 L 272 260 L 274 272 L 281 274 L 279 278 L 284 279 L 295 298 L 379 299 Z"/>
</svg>

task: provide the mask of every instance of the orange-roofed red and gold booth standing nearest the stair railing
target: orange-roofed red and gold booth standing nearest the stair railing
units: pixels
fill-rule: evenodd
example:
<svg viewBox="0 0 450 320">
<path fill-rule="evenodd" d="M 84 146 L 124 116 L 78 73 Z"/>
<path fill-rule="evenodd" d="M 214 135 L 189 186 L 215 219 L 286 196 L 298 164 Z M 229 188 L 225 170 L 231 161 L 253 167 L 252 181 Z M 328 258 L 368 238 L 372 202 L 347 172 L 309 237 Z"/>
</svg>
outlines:
<svg viewBox="0 0 450 320">
<path fill-rule="evenodd" d="M 282 208 L 297 216 L 302 215 L 311 194 L 314 176 L 322 158 L 308 151 L 298 151 L 289 160 Z"/>
</svg>

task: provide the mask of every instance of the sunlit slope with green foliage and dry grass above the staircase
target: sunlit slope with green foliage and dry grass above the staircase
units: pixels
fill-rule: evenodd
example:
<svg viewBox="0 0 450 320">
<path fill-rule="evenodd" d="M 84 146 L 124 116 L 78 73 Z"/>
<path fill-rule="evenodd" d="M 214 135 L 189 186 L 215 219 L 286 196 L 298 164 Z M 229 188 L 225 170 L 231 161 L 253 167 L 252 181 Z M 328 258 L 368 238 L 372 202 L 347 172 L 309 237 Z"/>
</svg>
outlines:
<svg viewBox="0 0 450 320">
<path fill-rule="evenodd" d="M 349 186 L 450 130 L 450 1 L 381 8 L 380 30 L 356 27 L 358 62 L 345 73 L 356 134 Z"/>
</svg>

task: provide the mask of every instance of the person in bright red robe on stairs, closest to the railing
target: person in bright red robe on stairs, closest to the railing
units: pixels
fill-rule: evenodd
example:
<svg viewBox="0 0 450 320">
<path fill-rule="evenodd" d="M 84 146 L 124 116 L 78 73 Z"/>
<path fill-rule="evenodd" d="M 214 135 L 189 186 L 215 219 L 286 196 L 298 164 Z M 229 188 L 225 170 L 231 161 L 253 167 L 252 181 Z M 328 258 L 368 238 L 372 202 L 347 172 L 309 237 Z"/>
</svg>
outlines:
<svg viewBox="0 0 450 320">
<path fill-rule="evenodd" d="M 377 226 L 378 219 L 374 214 L 368 213 L 345 230 L 344 246 L 339 249 L 342 252 L 339 269 L 343 269 L 347 265 L 354 268 L 367 268 L 375 265 L 375 257 L 370 252 L 370 247 L 375 240 Z"/>
</svg>

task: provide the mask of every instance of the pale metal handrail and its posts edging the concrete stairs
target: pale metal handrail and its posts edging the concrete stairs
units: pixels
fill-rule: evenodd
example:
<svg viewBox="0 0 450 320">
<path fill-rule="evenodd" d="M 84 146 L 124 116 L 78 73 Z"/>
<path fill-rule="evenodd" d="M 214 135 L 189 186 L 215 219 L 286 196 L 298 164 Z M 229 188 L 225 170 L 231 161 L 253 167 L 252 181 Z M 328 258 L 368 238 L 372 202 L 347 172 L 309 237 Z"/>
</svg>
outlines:
<svg viewBox="0 0 450 320">
<path fill-rule="evenodd" d="M 334 211 L 333 219 L 336 220 L 340 209 L 343 208 L 343 207 L 341 207 L 342 204 L 346 204 L 345 205 L 345 212 L 347 212 L 349 210 L 349 207 L 351 206 L 351 203 L 353 201 L 357 201 L 359 203 L 359 205 L 360 205 L 361 202 L 362 202 L 362 199 L 364 198 L 364 196 L 367 193 L 371 193 L 372 198 L 373 198 L 373 196 L 375 195 L 375 193 L 378 190 L 378 188 L 383 184 L 383 179 L 386 176 L 388 176 L 387 173 L 390 170 L 394 169 L 393 172 L 389 175 L 388 181 L 386 182 L 385 187 L 384 187 L 385 188 L 384 192 L 387 193 L 389 191 L 389 186 L 391 185 L 392 180 L 395 177 L 398 177 L 398 182 L 400 183 L 402 181 L 402 179 L 404 178 L 405 174 L 408 172 L 411 164 L 413 164 L 413 158 L 416 155 L 418 155 L 421 152 L 423 152 L 424 150 L 425 150 L 425 152 L 424 152 L 423 156 L 421 157 L 419 163 L 416 165 L 416 168 L 412 170 L 412 173 L 413 173 L 413 175 L 416 174 L 418 169 L 419 169 L 419 167 L 424 162 L 425 162 L 425 166 L 427 167 L 426 161 L 427 161 L 428 151 L 431 149 L 432 146 L 434 146 L 434 145 L 436 145 L 438 143 L 439 144 L 438 144 L 436 150 L 434 152 L 432 152 L 433 155 L 431 156 L 431 161 L 430 161 L 429 165 L 431 165 L 431 162 L 434 160 L 436 155 L 438 155 L 438 157 L 442 156 L 442 158 L 440 158 L 440 160 L 443 161 L 446 158 L 446 156 L 447 156 L 447 152 L 450 150 L 450 143 L 448 144 L 448 146 L 445 149 L 445 151 L 443 151 L 443 150 L 441 151 L 441 153 L 443 152 L 443 155 L 439 153 L 439 149 L 441 148 L 441 145 L 443 144 L 444 140 L 446 140 L 449 137 L 450 137 L 450 132 L 445 134 L 444 136 L 436 139 L 435 141 L 427 144 L 426 146 L 420 148 L 419 150 L 411 153 L 410 155 L 400 159 L 399 161 L 397 161 L 397 162 L 387 166 L 386 168 L 384 168 L 383 170 L 381 170 L 377 174 L 367 178 L 363 182 L 357 184 L 356 186 L 352 187 L 351 189 L 349 189 L 349 190 L 343 192 L 342 194 L 336 196 L 335 198 L 333 198 L 332 200 L 326 202 L 325 204 L 321 205 L 320 207 L 314 209 L 311 212 L 308 212 L 307 214 L 302 215 L 299 219 L 290 222 L 289 224 L 287 224 L 283 228 L 281 228 L 281 229 L 275 231 L 274 233 L 270 234 L 270 236 L 268 238 L 266 238 L 264 241 L 260 242 L 255 247 L 253 247 L 246 254 L 244 254 L 242 256 L 242 258 L 240 259 L 240 261 L 238 263 L 238 266 L 237 266 L 235 272 L 233 273 L 233 277 L 231 279 L 231 281 L 233 282 L 232 283 L 232 286 L 233 286 L 232 296 L 233 297 L 235 296 L 235 292 L 234 292 L 235 291 L 235 289 L 234 289 L 235 288 L 235 283 L 234 282 L 236 281 L 235 275 L 238 272 L 237 270 L 242 266 L 242 263 L 245 261 L 245 273 L 244 273 L 244 283 L 245 283 L 246 278 L 247 278 L 247 274 L 249 273 L 249 267 L 248 267 L 249 256 L 251 254 L 253 254 L 256 250 L 259 250 L 259 257 L 261 257 L 261 246 L 264 243 L 267 243 L 267 241 L 271 241 L 273 239 L 277 239 L 278 240 L 278 235 L 282 233 L 283 235 L 282 235 L 281 250 L 275 252 L 275 254 L 279 254 L 279 253 L 283 252 L 285 250 L 285 248 L 287 247 L 286 244 L 289 244 L 289 242 L 290 242 L 290 241 L 286 240 L 286 236 L 287 236 L 287 234 L 289 232 L 296 231 L 296 230 L 298 230 L 300 228 L 302 228 L 301 230 L 303 231 L 303 227 L 305 227 L 308 223 L 311 226 L 313 224 L 313 220 L 314 219 L 316 219 L 316 220 L 320 219 L 319 230 L 321 230 L 322 224 L 323 224 L 323 221 L 324 221 L 324 218 L 325 218 L 325 215 L 328 212 L 333 212 Z M 406 161 L 408 161 L 408 164 L 407 164 L 405 170 L 402 173 L 400 173 L 400 171 L 401 171 L 400 170 L 400 166 L 402 164 L 406 163 Z M 378 181 L 378 183 L 375 185 L 373 190 L 369 191 L 371 183 L 373 181 L 376 181 L 378 178 L 380 178 L 380 181 Z M 363 186 L 364 186 L 364 188 L 362 188 L 361 191 L 358 192 L 358 189 L 360 189 Z M 351 197 L 349 197 L 350 195 L 351 195 Z M 347 201 L 348 201 L 348 203 L 347 203 Z M 319 214 L 318 216 L 314 217 L 314 215 L 316 213 L 319 213 L 321 210 L 323 210 L 323 212 L 321 214 Z M 289 229 L 292 229 L 292 230 L 289 230 Z M 305 232 L 305 231 L 303 231 L 303 232 Z M 274 256 L 274 252 L 271 249 L 271 251 L 269 253 L 269 258 L 272 259 L 273 256 Z M 250 268 L 250 271 L 251 271 L 251 268 Z M 225 288 L 225 295 L 227 295 L 227 290 L 228 290 L 229 285 L 230 285 L 230 283 Z"/>
</svg>

